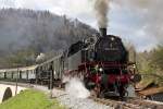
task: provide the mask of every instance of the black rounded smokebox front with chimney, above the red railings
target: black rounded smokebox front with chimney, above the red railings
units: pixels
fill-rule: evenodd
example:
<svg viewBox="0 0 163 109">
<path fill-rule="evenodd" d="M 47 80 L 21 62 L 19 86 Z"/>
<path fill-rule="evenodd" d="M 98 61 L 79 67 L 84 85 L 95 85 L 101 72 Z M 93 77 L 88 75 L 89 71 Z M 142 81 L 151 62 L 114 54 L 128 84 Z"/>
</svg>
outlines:
<svg viewBox="0 0 163 109">
<path fill-rule="evenodd" d="M 128 52 L 121 38 L 106 35 L 106 28 L 100 28 L 101 37 L 96 44 L 96 61 L 126 63 Z"/>
</svg>

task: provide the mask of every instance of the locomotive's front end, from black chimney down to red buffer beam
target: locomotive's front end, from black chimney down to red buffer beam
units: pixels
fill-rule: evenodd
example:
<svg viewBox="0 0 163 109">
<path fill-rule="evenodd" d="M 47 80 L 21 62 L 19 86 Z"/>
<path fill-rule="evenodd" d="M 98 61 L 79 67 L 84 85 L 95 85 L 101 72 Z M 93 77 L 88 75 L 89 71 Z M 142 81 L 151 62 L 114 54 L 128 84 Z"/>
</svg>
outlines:
<svg viewBox="0 0 163 109">
<path fill-rule="evenodd" d="M 106 35 L 106 28 L 100 31 L 101 37 L 95 45 L 95 69 L 97 74 L 91 74 L 90 78 L 100 83 L 101 90 L 116 90 L 120 96 L 124 96 L 124 87 L 130 78 L 126 65 L 128 51 L 120 37 Z"/>
</svg>

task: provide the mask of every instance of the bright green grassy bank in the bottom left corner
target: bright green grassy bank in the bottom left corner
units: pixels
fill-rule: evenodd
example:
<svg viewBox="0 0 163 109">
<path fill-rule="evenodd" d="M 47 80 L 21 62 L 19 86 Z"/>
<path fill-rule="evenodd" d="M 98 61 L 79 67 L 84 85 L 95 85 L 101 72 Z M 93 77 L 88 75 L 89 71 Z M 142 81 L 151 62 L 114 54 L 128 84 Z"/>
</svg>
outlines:
<svg viewBox="0 0 163 109">
<path fill-rule="evenodd" d="M 27 89 L 2 102 L 0 109 L 64 109 L 55 99 L 50 100 L 42 92 Z"/>
</svg>

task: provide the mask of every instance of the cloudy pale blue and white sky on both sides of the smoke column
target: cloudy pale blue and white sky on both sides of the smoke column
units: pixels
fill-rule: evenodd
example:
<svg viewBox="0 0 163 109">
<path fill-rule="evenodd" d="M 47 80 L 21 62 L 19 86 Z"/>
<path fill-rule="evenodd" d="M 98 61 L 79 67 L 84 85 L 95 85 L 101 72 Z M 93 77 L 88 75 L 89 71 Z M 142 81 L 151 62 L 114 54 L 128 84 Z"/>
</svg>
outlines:
<svg viewBox="0 0 163 109">
<path fill-rule="evenodd" d="M 120 36 L 138 51 L 163 44 L 163 0 L 109 0 L 108 34 Z M 98 28 L 95 0 L 0 0 L 0 8 L 48 10 Z"/>
</svg>

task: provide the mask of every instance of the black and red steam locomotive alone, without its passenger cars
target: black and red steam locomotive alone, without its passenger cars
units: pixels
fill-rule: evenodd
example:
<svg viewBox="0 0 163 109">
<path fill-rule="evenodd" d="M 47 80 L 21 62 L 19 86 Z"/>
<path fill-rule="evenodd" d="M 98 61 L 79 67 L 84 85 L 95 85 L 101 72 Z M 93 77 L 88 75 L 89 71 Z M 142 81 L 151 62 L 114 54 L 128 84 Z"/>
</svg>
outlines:
<svg viewBox="0 0 163 109">
<path fill-rule="evenodd" d="M 128 51 L 122 39 L 106 35 L 100 28 L 99 37 L 89 37 L 73 44 L 64 53 L 64 75 L 80 77 L 97 96 L 124 97 L 133 72 L 128 70 Z"/>
</svg>

